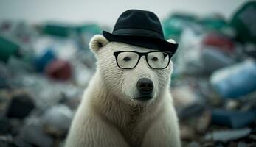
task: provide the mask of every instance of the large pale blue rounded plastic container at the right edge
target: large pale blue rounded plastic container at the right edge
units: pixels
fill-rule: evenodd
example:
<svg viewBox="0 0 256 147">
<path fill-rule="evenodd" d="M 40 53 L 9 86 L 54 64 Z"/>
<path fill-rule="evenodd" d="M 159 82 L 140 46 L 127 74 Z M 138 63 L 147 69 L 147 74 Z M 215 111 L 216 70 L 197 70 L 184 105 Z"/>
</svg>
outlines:
<svg viewBox="0 0 256 147">
<path fill-rule="evenodd" d="M 224 98 L 240 98 L 256 91 L 256 62 L 244 62 L 215 71 L 210 83 Z"/>
</svg>

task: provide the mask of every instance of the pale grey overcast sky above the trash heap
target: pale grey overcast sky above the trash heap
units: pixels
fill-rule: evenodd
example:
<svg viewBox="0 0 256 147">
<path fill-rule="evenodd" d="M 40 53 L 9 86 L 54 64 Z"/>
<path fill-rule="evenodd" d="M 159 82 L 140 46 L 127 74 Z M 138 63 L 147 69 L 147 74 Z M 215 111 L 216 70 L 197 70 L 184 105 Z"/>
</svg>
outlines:
<svg viewBox="0 0 256 147">
<path fill-rule="evenodd" d="M 229 18 L 246 0 L 0 0 L 0 20 L 25 20 L 29 23 L 61 21 L 80 24 L 96 22 L 114 26 L 128 9 L 151 10 L 159 18 L 172 12 L 209 15 L 219 12 Z"/>
</svg>

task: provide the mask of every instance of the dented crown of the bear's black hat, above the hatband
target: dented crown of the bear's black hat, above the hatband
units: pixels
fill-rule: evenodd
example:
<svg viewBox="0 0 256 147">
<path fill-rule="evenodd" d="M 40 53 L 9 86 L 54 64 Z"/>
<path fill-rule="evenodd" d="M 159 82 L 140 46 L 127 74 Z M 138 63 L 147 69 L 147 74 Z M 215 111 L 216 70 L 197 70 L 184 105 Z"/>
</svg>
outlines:
<svg viewBox="0 0 256 147">
<path fill-rule="evenodd" d="M 151 30 L 164 37 L 159 18 L 153 12 L 145 10 L 127 10 L 122 12 L 117 19 L 113 33 L 119 29 Z"/>
</svg>

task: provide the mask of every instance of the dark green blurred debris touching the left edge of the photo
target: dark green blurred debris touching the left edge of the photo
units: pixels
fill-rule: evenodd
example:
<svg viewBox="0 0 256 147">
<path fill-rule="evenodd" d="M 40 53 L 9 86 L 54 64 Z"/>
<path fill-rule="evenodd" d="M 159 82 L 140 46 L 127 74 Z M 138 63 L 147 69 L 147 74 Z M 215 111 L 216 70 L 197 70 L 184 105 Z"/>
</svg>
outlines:
<svg viewBox="0 0 256 147">
<path fill-rule="evenodd" d="M 7 62 L 10 56 L 18 55 L 19 46 L 0 36 L 0 60 Z"/>
</svg>

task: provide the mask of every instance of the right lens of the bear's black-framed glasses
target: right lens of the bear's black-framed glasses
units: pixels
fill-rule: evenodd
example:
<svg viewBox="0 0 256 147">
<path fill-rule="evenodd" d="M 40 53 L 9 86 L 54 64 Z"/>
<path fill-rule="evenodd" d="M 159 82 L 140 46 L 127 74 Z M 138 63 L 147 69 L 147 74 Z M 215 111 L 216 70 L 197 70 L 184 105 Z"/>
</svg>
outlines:
<svg viewBox="0 0 256 147">
<path fill-rule="evenodd" d="M 169 64 L 170 56 L 165 52 L 151 52 L 148 54 L 148 64 L 151 68 L 166 68 Z"/>
</svg>

